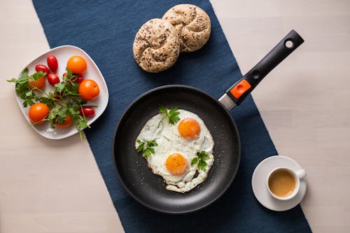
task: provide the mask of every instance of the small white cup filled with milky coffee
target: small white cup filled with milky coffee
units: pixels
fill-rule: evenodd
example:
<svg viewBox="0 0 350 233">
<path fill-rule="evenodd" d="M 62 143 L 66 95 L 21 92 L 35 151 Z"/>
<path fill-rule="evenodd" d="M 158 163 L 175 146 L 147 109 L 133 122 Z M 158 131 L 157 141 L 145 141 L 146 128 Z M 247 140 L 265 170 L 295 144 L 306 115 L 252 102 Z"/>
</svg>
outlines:
<svg viewBox="0 0 350 233">
<path fill-rule="evenodd" d="M 275 199 L 289 200 L 300 190 L 300 179 L 306 176 L 306 171 L 293 171 L 288 167 L 277 167 L 269 172 L 266 178 L 266 188 Z"/>
</svg>

